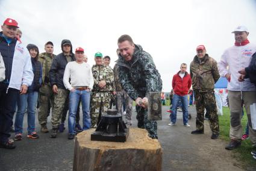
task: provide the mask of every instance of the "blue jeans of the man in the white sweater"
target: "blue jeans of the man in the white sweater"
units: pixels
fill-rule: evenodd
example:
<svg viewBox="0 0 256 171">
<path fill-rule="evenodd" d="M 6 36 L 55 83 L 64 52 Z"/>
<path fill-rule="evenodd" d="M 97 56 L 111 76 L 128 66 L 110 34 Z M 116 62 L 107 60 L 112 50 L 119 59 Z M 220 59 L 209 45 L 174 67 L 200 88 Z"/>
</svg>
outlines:
<svg viewBox="0 0 256 171">
<path fill-rule="evenodd" d="M 81 99 L 83 110 L 83 130 L 90 129 L 90 92 L 87 90 L 75 90 L 69 93 L 69 134 L 75 134 L 75 118 L 78 103 Z"/>
</svg>

